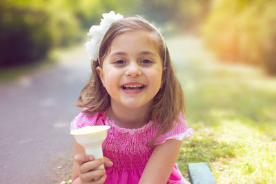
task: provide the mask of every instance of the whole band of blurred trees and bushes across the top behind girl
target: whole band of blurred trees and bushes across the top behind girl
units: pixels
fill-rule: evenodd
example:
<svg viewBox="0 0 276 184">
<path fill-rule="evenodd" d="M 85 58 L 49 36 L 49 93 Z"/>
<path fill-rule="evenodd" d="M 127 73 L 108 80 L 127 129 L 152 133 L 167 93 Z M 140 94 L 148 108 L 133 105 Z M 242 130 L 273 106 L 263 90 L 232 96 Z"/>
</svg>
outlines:
<svg viewBox="0 0 276 184">
<path fill-rule="evenodd" d="M 141 14 L 164 34 L 197 33 L 223 62 L 246 63 L 276 73 L 274 1 L 3 0 L 0 67 L 39 62 L 53 47 L 83 41 L 102 12 Z"/>
</svg>

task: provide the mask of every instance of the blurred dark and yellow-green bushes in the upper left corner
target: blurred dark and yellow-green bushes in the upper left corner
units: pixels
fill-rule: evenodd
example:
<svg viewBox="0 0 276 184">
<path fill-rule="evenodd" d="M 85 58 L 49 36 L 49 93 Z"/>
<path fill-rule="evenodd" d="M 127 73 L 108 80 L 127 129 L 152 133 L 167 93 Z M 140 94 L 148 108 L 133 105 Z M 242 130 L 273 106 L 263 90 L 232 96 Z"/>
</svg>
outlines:
<svg viewBox="0 0 276 184">
<path fill-rule="evenodd" d="M 2 0 L 0 11 L 1 68 L 38 61 L 52 45 L 67 45 L 77 35 L 66 0 Z"/>
</svg>

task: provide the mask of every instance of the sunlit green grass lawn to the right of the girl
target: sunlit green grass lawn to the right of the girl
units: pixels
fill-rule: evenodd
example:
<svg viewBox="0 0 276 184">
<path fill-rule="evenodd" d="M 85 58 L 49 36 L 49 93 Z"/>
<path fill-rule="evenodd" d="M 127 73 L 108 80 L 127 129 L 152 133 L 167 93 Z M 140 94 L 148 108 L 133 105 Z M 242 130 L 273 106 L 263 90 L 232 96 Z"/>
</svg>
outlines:
<svg viewBox="0 0 276 184">
<path fill-rule="evenodd" d="M 179 167 L 206 161 L 217 183 L 276 183 L 276 78 L 215 61 L 199 41 L 168 42 L 187 103 Z"/>
</svg>

